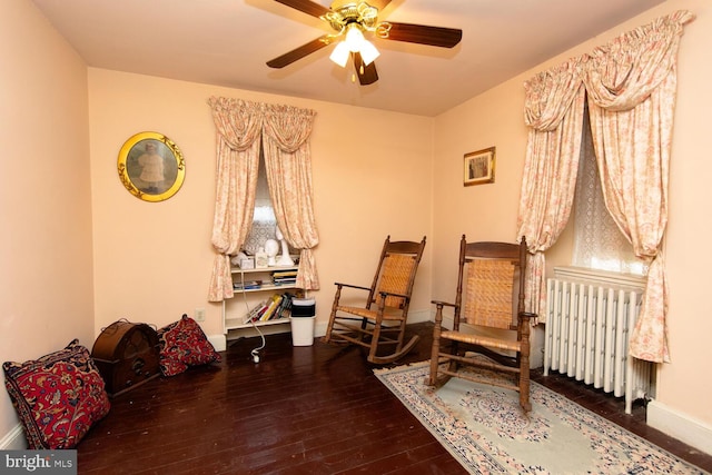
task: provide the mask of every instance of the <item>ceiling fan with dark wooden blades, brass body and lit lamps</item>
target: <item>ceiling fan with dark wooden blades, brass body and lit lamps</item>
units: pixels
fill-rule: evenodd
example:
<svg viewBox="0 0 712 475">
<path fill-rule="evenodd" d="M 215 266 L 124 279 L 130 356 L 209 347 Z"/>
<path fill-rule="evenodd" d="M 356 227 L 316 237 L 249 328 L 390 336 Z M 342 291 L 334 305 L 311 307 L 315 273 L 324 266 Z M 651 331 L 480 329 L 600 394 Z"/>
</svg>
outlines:
<svg viewBox="0 0 712 475">
<path fill-rule="evenodd" d="M 362 86 L 372 85 L 378 80 L 374 60 L 379 55 L 376 47 L 365 38 L 364 33 L 383 40 L 429 44 L 439 48 L 453 48 L 463 37 L 462 30 L 453 28 L 378 21 L 378 11 L 388 6 L 390 0 L 368 0 L 368 2 L 335 0 L 330 8 L 310 0 L 275 1 L 326 21 L 336 33 L 323 34 L 267 61 L 267 66 L 284 68 L 328 44 L 338 42 L 330 59 L 340 67 L 345 67 L 349 57 L 353 58 L 358 82 Z"/>
</svg>

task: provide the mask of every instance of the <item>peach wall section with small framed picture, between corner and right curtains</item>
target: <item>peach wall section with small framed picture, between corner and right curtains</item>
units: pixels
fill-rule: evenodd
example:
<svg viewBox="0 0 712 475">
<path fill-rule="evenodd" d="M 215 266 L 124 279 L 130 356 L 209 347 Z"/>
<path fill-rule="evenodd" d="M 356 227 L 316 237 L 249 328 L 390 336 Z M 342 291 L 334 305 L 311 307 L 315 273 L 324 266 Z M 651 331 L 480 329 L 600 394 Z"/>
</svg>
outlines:
<svg viewBox="0 0 712 475">
<path fill-rule="evenodd" d="M 521 82 L 508 82 L 435 121 L 433 297 L 453 300 L 459 239 L 516 238 L 526 131 Z M 463 186 L 464 155 L 496 147 L 494 184 Z"/>
</svg>

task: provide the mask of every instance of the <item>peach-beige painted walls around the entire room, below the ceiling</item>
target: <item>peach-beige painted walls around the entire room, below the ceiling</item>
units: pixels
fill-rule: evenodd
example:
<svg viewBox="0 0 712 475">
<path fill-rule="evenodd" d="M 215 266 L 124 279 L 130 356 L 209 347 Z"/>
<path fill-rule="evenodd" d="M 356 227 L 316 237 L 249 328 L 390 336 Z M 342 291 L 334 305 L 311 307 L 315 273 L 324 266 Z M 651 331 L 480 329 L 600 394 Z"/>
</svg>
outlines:
<svg viewBox="0 0 712 475">
<path fill-rule="evenodd" d="M 0 357 L 36 357 L 73 337 L 91 346 L 119 318 L 161 326 L 196 307 L 207 308 L 206 333 L 221 331 L 219 305 L 206 301 L 215 192 L 215 132 L 206 105 L 211 95 L 317 111 L 312 145 L 322 239 L 315 251 L 319 323 L 335 280 L 370 280 L 387 234 L 428 236 L 412 307 L 427 317 L 431 298 L 452 298 L 463 232 L 515 237 L 526 144 L 523 81 L 682 8 L 698 19 L 685 28 L 680 50 L 665 243 L 672 363 L 660 370 L 653 412 L 690 423 L 706 448 L 712 409 L 702 362 L 712 321 L 711 304 L 700 296 L 712 258 L 694 248 L 711 230 L 704 206 L 712 198 L 712 165 L 703 154 L 711 149 L 712 7 L 705 0 L 670 0 L 435 119 L 106 70 L 87 73 L 31 2 L 2 2 L 0 58 L 12 75 L 0 77 L 0 133 L 10 151 L 0 160 L 7 229 L 0 246 Z M 174 139 L 187 162 L 182 189 L 159 204 L 129 195 L 116 172 L 123 141 L 148 130 Z M 490 146 L 497 147 L 496 182 L 463 187 L 463 155 Z M 566 243 L 553 249 L 550 265 L 565 264 Z M 684 439 L 674 424 L 660 426 Z M 0 446 L 16 425 L 7 394 L 0 396 Z"/>
</svg>

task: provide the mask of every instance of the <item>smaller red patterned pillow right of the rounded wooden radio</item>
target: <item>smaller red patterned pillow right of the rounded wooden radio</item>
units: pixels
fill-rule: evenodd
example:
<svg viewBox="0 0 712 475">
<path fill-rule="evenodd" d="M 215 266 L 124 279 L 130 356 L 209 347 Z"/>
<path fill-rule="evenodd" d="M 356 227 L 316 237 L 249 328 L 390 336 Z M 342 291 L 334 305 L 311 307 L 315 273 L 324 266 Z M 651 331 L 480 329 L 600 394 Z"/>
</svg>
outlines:
<svg viewBox="0 0 712 475">
<path fill-rule="evenodd" d="M 160 372 L 164 376 L 175 376 L 189 366 L 219 362 L 220 355 L 205 336 L 200 325 L 184 315 L 158 330 L 160 345 Z"/>
</svg>

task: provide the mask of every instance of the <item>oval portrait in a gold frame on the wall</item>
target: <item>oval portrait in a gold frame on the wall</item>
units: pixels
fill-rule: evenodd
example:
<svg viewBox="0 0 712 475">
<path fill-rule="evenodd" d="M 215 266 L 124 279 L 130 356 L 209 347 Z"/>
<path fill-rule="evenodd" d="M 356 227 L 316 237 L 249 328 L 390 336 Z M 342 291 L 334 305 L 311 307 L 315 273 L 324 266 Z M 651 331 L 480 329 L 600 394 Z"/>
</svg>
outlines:
<svg viewBox="0 0 712 475">
<path fill-rule="evenodd" d="M 186 176 L 186 161 L 178 146 L 158 132 L 140 132 L 119 151 L 119 179 L 144 201 L 162 201 L 174 196 Z"/>
</svg>

